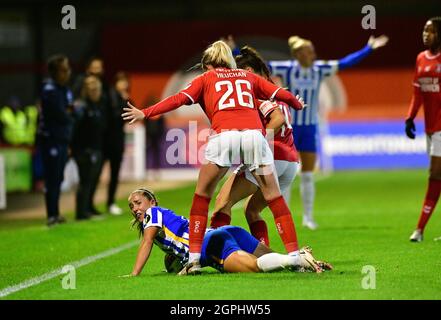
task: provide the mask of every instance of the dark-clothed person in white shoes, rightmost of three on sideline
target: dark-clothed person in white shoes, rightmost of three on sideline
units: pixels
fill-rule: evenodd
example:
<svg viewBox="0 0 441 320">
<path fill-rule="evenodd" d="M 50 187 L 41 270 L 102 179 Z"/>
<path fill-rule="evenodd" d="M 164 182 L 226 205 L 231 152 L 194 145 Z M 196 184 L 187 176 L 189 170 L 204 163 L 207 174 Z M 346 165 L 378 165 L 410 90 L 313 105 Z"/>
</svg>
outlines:
<svg viewBox="0 0 441 320">
<path fill-rule="evenodd" d="M 110 214 L 120 215 L 122 209 L 115 203 L 115 194 L 119 182 L 119 171 L 124 154 L 124 120 L 121 118 L 123 107 L 129 100 L 130 82 L 126 73 L 118 72 L 109 91 L 110 103 L 107 104 L 107 129 L 104 134 L 103 161 L 110 163 L 110 181 L 107 189 L 107 210 Z"/>
</svg>

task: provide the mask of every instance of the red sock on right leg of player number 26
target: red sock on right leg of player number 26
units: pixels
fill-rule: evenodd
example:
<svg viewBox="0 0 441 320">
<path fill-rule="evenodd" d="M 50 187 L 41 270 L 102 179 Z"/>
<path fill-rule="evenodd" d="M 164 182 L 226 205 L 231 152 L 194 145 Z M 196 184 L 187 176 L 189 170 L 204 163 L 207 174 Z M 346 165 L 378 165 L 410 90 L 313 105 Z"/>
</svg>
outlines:
<svg viewBox="0 0 441 320">
<path fill-rule="evenodd" d="M 286 251 L 290 253 L 299 250 L 296 228 L 291 216 L 291 211 L 286 205 L 285 199 L 283 199 L 282 196 L 279 196 L 268 201 L 268 207 L 273 213 L 277 231 L 282 238 Z"/>
</svg>

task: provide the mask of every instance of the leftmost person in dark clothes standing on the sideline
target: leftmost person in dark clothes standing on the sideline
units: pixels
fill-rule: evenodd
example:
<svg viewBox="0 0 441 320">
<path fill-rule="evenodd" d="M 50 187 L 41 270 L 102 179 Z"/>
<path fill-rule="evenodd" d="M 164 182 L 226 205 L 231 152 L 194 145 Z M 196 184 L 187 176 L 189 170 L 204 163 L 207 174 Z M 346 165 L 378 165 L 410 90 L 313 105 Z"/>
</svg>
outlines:
<svg viewBox="0 0 441 320">
<path fill-rule="evenodd" d="M 64 55 L 49 58 L 50 78 L 43 84 L 38 144 L 42 153 L 48 226 L 65 222 L 60 216 L 60 187 L 73 127 L 73 95 L 67 87 L 71 69 Z"/>
</svg>

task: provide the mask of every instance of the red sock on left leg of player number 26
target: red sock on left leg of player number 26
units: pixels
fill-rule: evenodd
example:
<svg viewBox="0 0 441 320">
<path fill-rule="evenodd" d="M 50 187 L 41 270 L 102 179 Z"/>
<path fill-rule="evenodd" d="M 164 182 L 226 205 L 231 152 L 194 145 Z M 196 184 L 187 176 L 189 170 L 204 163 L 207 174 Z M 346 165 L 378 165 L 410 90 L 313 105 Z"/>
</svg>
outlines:
<svg viewBox="0 0 441 320">
<path fill-rule="evenodd" d="M 201 253 L 202 241 L 207 229 L 210 198 L 194 194 L 190 210 L 190 252 Z"/>
</svg>

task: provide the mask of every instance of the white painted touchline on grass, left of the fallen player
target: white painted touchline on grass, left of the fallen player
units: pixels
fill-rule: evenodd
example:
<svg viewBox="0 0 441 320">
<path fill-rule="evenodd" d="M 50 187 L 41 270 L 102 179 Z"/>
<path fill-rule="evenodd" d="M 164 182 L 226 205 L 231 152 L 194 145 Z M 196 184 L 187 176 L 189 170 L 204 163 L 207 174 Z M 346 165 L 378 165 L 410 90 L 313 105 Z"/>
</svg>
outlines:
<svg viewBox="0 0 441 320">
<path fill-rule="evenodd" d="M 123 244 L 122 246 L 119 246 L 119 247 L 116 247 L 116 248 L 109 249 L 109 250 L 106 250 L 104 252 L 98 253 L 98 254 L 96 254 L 94 256 L 90 256 L 90 257 L 86 257 L 86 258 L 78 260 L 78 261 L 66 263 L 66 265 L 72 265 L 75 268 L 79 268 L 79 267 L 85 266 L 87 264 L 90 264 L 92 262 L 95 262 L 97 260 L 100 260 L 100 259 L 112 256 L 112 255 L 117 254 L 117 253 L 120 253 L 121 251 L 130 249 L 130 248 L 132 248 L 132 247 L 134 247 L 134 246 L 136 246 L 138 244 L 139 244 L 139 241 L 132 241 L 132 242 Z M 48 273 L 45 273 L 45 274 L 43 274 L 41 276 L 25 280 L 25 281 L 23 281 L 23 282 L 21 282 L 21 283 L 19 283 L 17 285 L 1 289 L 0 290 L 0 298 L 6 297 L 6 296 L 10 295 L 11 293 L 14 293 L 14 292 L 17 292 L 17 291 L 21 291 L 23 289 L 26 289 L 26 288 L 29 288 L 29 287 L 32 287 L 32 286 L 36 286 L 36 285 L 38 285 L 38 284 L 40 284 L 40 283 L 42 283 L 44 281 L 53 279 L 53 278 L 59 276 L 60 274 L 64 274 L 62 270 L 63 270 L 63 267 L 58 268 L 56 270 L 52 270 L 52 271 L 50 271 Z"/>
</svg>

